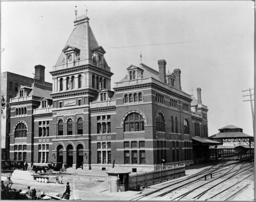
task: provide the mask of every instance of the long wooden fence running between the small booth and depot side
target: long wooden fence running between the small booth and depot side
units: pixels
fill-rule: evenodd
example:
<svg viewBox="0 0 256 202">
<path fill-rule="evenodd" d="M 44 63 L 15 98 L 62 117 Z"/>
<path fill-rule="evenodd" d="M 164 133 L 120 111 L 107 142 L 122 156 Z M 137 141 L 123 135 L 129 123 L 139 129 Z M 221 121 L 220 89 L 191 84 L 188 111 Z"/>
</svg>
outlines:
<svg viewBox="0 0 256 202">
<path fill-rule="evenodd" d="M 139 173 L 135 176 L 129 176 L 129 189 L 138 188 L 138 186 L 144 186 L 145 184 L 148 185 L 156 182 L 162 182 L 164 180 L 170 180 L 184 175 L 185 165 Z"/>
</svg>

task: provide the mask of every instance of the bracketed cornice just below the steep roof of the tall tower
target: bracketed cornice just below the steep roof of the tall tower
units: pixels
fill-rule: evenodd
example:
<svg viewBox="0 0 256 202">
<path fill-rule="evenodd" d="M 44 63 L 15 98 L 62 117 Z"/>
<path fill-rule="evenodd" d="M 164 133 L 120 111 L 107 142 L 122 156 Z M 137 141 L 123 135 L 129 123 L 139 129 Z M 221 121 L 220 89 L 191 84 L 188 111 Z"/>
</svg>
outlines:
<svg viewBox="0 0 256 202">
<path fill-rule="evenodd" d="M 55 71 L 50 72 L 50 74 L 52 76 L 60 76 L 62 74 L 67 74 L 67 73 L 70 73 L 70 72 L 78 72 L 78 71 L 86 70 L 86 69 L 91 69 L 91 70 L 94 70 L 96 72 L 101 72 L 102 74 L 105 74 L 105 75 L 108 75 L 108 76 L 112 76 L 114 74 L 112 72 L 109 72 L 107 70 L 98 68 L 97 66 L 91 65 L 91 64 L 88 64 L 88 66 L 80 65 L 80 66 L 76 66 L 76 67 L 72 67 L 72 68 L 55 70 Z"/>
</svg>

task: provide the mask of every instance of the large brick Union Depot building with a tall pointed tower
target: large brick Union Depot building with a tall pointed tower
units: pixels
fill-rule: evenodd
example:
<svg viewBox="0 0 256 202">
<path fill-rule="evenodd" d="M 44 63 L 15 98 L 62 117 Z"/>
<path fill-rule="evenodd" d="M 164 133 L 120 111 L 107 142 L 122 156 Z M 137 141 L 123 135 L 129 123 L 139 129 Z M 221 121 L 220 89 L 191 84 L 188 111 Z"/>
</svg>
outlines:
<svg viewBox="0 0 256 202">
<path fill-rule="evenodd" d="M 153 170 L 163 159 L 174 164 L 201 158 L 193 155 L 192 145 L 193 136 L 208 137 L 201 89 L 191 112 L 194 98 L 182 91 L 180 69 L 166 74 L 166 61 L 158 60 L 159 71 L 129 66 L 112 91 L 105 53 L 89 18 L 75 20 L 50 72 L 52 87 L 22 85 L 10 100 L 10 159 L 26 155 L 35 164 L 106 170 L 115 160 L 140 171 Z"/>
</svg>

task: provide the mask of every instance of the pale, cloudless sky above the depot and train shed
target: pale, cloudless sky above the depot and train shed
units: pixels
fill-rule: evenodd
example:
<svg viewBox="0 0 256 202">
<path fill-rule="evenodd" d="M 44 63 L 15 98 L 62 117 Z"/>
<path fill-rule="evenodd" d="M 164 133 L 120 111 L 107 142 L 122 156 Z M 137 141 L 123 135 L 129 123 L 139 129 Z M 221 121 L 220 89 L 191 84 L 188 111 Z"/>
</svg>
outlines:
<svg viewBox="0 0 256 202">
<path fill-rule="evenodd" d="M 33 77 L 46 67 L 46 81 L 72 32 L 75 6 L 86 13 L 114 82 L 142 62 L 158 70 L 181 70 L 181 86 L 208 106 L 209 136 L 226 125 L 253 135 L 250 102 L 254 85 L 252 1 L 65 1 L 1 2 L 2 72 Z M 192 41 L 192 42 L 191 42 Z M 180 43 L 184 42 L 184 43 Z M 150 45 L 158 44 L 158 45 Z M 129 48 L 115 48 L 137 46 Z M 4 49 L 4 50 L 3 50 Z"/>
</svg>

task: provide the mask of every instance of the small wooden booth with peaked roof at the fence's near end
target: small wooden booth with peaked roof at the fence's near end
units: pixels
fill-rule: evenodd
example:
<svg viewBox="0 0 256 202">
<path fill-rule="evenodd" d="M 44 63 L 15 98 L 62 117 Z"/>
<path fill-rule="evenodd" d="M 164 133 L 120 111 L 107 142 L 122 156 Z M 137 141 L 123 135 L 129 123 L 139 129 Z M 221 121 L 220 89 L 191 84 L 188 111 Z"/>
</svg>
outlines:
<svg viewBox="0 0 256 202">
<path fill-rule="evenodd" d="M 110 190 L 110 192 L 128 191 L 130 173 L 131 172 L 120 166 L 108 170 L 108 190 Z"/>
</svg>

